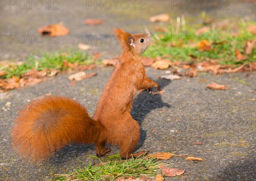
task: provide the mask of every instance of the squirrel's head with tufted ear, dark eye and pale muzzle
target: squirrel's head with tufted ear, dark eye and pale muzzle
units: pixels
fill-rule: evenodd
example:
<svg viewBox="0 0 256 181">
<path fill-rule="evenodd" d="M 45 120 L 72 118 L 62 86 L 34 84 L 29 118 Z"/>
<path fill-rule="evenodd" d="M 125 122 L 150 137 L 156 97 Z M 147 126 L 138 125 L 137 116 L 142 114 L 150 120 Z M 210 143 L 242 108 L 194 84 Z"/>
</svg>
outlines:
<svg viewBox="0 0 256 181">
<path fill-rule="evenodd" d="M 151 34 L 133 34 L 116 28 L 113 34 L 119 39 L 123 51 L 132 52 L 135 55 L 142 55 L 151 43 Z"/>
</svg>

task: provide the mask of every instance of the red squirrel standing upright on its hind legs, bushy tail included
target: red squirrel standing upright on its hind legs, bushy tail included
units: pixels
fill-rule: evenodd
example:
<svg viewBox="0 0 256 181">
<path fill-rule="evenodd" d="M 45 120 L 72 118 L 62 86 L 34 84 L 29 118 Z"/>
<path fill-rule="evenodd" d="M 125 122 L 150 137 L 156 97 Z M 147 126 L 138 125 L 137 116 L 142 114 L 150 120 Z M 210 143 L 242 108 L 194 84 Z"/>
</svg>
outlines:
<svg viewBox="0 0 256 181">
<path fill-rule="evenodd" d="M 137 90 L 161 87 L 147 78 L 140 55 L 151 43 L 150 34 L 129 34 L 114 29 L 122 46 L 122 55 L 97 103 L 93 119 L 77 101 L 61 96 L 46 96 L 30 103 L 31 109 L 20 112 L 15 119 L 12 146 L 20 155 L 40 161 L 70 143 L 96 144 L 98 157 L 110 152 L 105 147 L 120 147 L 121 158 L 131 158 L 140 138 L 140 126 L 131 117 Z M 40 105 L 40 111 L 38 110 Z M 106 106 L 109 106 L 108 109 Z M 108 110 L 106 110 L 108 109 Z"/>
</svg>

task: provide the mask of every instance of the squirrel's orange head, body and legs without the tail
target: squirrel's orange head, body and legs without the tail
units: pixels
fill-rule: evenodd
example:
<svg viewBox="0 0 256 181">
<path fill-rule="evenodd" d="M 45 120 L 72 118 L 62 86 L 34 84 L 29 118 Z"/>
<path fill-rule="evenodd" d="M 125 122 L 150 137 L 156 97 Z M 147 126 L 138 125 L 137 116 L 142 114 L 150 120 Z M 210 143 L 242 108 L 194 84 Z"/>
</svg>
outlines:
<svg viewBox="0 0 256 181">
<path fill-rule="evenodd" d="M 122 45 L 122 55 L 115 65 L 93 115 L 93 119 L 99 120 L 107 132 L 105 141 L 98 141 L 96 144 L 96 150 L 100 152 L 104 150 L 106 143 L 111 143 L 120 147 L 122 158 L 130 158 L 140 138 L 140 126 L 130 114 L 134 95 L 140 89 L 151 87 L 157 87 L 159 91 L 161 89 L 156 82 L 147 78 L 140 60 L 140 55 L 151 43 L 151 35 L 131 35 L 122 29 L 114 29 L 113 33 Z M 133 40 L 134 46 L 128 42 L 129 38 Z M 144 42 L 140 43 L 142 38 Z M 111 108 L 108 112 L 104 111 L 106 106 Z"/>
</svg>

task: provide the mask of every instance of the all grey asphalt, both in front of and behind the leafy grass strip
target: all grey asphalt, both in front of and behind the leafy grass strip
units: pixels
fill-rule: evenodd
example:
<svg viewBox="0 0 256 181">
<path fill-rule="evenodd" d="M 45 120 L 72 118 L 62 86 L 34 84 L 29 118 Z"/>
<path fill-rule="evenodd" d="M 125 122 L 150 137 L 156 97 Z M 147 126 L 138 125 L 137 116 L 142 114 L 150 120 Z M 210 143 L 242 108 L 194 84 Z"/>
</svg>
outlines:
<svg viewBox="0 0 256 181">
<path fill-rule="evenodd" d="M 31 52 L 54 51 L 63 46 L 76 47 L 85 43 L 87 34 L 108 35 L 113 27 L 119 26 L 135 33 L 143 31 L 143 25 L 151 31 L 157 24 L 150 24 L 148 17 L 152 14 L 169 12 L 173 17 L 183 11 L 174 9 L 170 12 L 168 1 L 145 2 L 145 10 L 106 10 L 88 9 L 84 1 L 58 1 L 60 10 L 43 11 L 38 9 L 8 10 L 0 12 L 1 34 L 36 34 L 36 29 L 48 23 L 64 21 L 71 30 L 67 37 L 61 37 L 57 45 L 49 43 L 1 43 L 1 60 L 28 55 Z M 236 3 L 233 3 L 236 2 Z M 46 4 L 44 4 L 46 6 Z M 55 4 L 52 4 L 55 5 Z M 2 6 L 2 5 L 1 5 Z M 131 4 L 130 4 L 131 6 Z M 154 7 L 154 8 L 153 8 Z M 52 6 L 51 6 L 52 8 Z M 149 9 L 151 8 L 151 9 Z M 204 9 L 215 16 L 241 15 L 254 18 L 253 3 L 230 2 L 230 11 Z M 70 11 L 72 9 L 72 11 Z M 201 11 L 187 10 L 189 15 Z M 101 14 L 99 13 L 101 12 Z M 143 12 L 143 13 L 142 13 Z M 175 14 L 176 15 L 173 15 Z M 142 16 L 143 14 L 143 16 Z M 15 17 L 15 18 L 14 18 Z M 85 17 L 96 17 L 105 20 L 102 26 L 80 25 Z M 14 19 L 13 19 L 14 18 Z M 29 19 L 30 18 L 30 19 Z M 76 29 L 76 27 L 79 27 Z M 103 57 L 113 57 L 120 53 L 116 43 L 93 43 L 97 51 L 105 52 Z M 89 51 L 89 53 L 91 53 Z M 113 67 L 104 67 L 96 77 L 70 85 L 68 75 L 49 78 L 44 82 L 24 89 L 1 93 L 1 108 L 11 102 L 19 108 L 29 100 L 51 93 L 76 98 L 88 109 L 90 116 L 94 113 L 99 96 L 108 81 L 108 72 Z M 158 79 L 165 71 L 146 68 L 149 78 L 157 81 L 163 95 L 150 95 L 142 92 L 134 98 L 131 115 L 141 126 L 141 138 L 136 151 L 172 152 L 173 154 L 191 154 L 204 161 L 186 161 L 185 158 L 173 157 L 167 161 L 172 167 L 184 169 L 183 176 L 166 178 L 166 180 L 256 180 L 256 74 L 244 72 L 221 76 L 201 75 L 196 78 L 180 80 Z M 100 69 L 97 69 L 100 72 Z M 227 90 L 211 90 L 206 84 L 215 82 L 227 85 Z M 2 109 L 1 109 L 2 110 Z M 17 156 L 10 147 L 10 131 L 17 110 L 3 110 L 0 115 L 0 180 L 2 181 L 41 181 L 49 178 L 50 173 L 63 173 L 79 164 L 96 163 L 89 155 L 95 155 L 93 145 L 69 145 L 57 152 L 54 157 L 41 164 L 26 161 Z M 195 145 L 193 143 L 204 143 Z M 119 152 L 112 147 L 109 154 Z M 107 154 L 107 155 L 109 155 Z M 106 158 L 103 157 L 102 159 Z"/>
</svg>

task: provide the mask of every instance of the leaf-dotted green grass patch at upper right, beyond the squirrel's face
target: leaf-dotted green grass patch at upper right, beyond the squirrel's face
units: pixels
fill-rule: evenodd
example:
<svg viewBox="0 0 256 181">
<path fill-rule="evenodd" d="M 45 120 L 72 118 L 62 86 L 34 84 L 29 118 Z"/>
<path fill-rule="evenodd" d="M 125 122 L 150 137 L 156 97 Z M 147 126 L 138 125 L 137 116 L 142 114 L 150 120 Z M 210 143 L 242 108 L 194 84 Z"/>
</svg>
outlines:
<svg viewBox="0 0 256 181">
<path fill-rule="evenodd" d="M 190 24 L 190 23 L 187 23 Z M 186 31 L 179 31 L 177 34 L 173 33 L 171 26 L 169 26 L 169 32 L 157 33 L 154 37 L 160 37 L 153 42 L 154 47 L 150 47 L 149 51 L 146 51 L 143 56 L 145 57 L 168 57 L 170 60 L 180 60 L 182 62 L 198 63 L 207 59 L 219 59 L 219 63 L 223 65 L 240 65 L 244 62 L 256 61 L 256 48 L 254 47 L 253 52 L 250 55 L 245 55 L 244 47 L 246 46 L 247 40 L 254 40 L 255 34 L 250 33 L 247 30 L 247 26 L 255 24 L 255 22 L 242 23 L 240 19 L 236 22 L 227 24 L 224 27 L 216 28 L 215 24 L 212 23 L 209 32 L 205 32 L 198 36 L 195 32 L 197 27 L 201 26 L 192 24 L 186 26 Z M 234 36 L 234 33 L 237 36 Z M 198 44 L 202 40 L 209 38 L 208 42 L 212 42 L 212 49 L 210 51 L 199 51 Z M 224 42 L 224 40 L 226 42 Z M 176 44 L 172 47 L 170 44 Z M 157 50 L 156 50 L 157 49 Z M 245 60 L 237 60 L 235 51 L 238 49 L 245 57 Z"/>
</svg>

